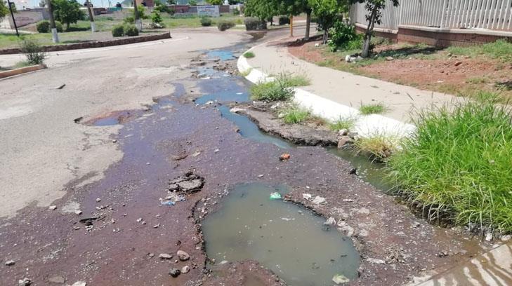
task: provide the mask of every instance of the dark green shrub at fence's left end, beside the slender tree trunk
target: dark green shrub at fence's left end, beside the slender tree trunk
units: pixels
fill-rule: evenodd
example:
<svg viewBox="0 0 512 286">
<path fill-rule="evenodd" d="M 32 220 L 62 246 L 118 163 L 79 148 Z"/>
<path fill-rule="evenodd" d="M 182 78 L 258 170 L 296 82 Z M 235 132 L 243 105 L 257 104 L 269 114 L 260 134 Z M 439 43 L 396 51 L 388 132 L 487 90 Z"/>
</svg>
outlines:
<svg viewBox="0 0 512 286">
<path fill-rule="evenodd" d="M 331 38 L 327 41 L 332 52 L 336 50 L 356 50 L 362 48 L 362 34 L 355 32 L 355 26 L 337 21 L 329 29 Z"/>
</svg>

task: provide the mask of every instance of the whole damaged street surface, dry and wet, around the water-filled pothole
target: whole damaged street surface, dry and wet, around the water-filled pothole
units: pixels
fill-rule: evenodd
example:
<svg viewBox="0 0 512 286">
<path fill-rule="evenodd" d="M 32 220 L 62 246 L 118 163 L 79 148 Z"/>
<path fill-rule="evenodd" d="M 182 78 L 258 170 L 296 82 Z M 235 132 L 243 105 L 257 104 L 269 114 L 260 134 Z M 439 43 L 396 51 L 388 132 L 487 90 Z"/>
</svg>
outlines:
<svg viewBox="0 0 512 286">
<path fill-rule="evenodd" d="M 50 69 L 0 81 L 0 285 L 295 285 L 275 264 L 206 257 L 204 218 L 254 182 L 286 185 L 286 200 L 336 219 L 359 254 L 346 274 L 353 285 L 402 285 L 482 252 L 332 151 L 294 146 L 229 112 L 249 102 L 235 57 L 286 34 L 181 30 L 163 43 L 52 54 Z M 296 250 L 312 269 L 315 247 Z"/>
</svg>

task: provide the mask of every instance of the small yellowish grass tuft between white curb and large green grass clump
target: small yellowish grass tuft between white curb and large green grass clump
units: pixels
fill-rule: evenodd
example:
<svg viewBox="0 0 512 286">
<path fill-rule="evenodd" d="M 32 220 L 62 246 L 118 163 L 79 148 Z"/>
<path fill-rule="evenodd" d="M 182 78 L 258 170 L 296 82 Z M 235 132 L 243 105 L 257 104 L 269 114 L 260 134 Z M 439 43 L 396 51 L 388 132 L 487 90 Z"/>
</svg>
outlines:
<svg viewBox="0 0 512 286">
<path fill-rule="evenodd" d="M 398 140 L 391 135 L 375 134 L 357 139 L 354 146 L 357 153 L 367 154 L 376 161 L 386 161 L 397 151 Z"/>
</svg>

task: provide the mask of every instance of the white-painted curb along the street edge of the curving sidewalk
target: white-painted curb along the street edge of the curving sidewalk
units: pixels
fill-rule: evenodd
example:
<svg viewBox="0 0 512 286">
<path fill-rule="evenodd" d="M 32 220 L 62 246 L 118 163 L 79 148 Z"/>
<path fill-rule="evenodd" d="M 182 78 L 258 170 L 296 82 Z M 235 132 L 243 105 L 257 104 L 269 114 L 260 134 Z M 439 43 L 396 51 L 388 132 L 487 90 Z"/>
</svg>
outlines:
<svg viewBox="0 0 512 286">
<path fill-rule="evenodd" d="M 250 48 L 246 52 L 254 48 L 256 47 Z M 242 74 L 247 74 L 245 78 L 251 81 L 251 83 L 274 80 L 263 71 L 251 67 L 251 64 L 249 64 L 243 54 L 238 58 L 237 68 Z M 327 100 L 324 97 L 310 93 L 302 88 L 294 88 L 294 90 L 294 102 L 301 107 L 310 109 L 316 116 L 320 116 L 332 122 L 339 118 L 354 118 L 355 127 L 353 131 L 357 132 L 357 134 L 362 137 L 386 136 L 393 139 L 401 139 L 403 137 L 409 137 L 416 130 L 416 126 L 409 123 L 404 123 L 379 114 L 361 115 L 360 111 L 353 107 Z"/>
</svg>

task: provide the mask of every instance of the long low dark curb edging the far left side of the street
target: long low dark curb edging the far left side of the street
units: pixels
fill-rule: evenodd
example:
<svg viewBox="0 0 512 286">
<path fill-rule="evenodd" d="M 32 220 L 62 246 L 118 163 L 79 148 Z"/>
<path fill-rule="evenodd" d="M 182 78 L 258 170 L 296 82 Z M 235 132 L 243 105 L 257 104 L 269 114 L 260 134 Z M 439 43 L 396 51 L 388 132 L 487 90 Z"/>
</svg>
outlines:
<svg viewBox="0 0 512 286">
<path fill-rule="evenodd" d="M 88 41 L 83 43 L 69 43 L 65 45 L 55 45 L 55 46 L 43 46 L 43 50 L 45 52 L 58 52 L 61 50 L 80 50 L 86 48 L 103 48 L 109 46 L 121 46 L 128 45 L 131 43 L 143 43 L 146 41 L 157 41 L 171 39 L 171 33 L 165 32 L 162 34 L 155 35 L 147 35 L 147 36 L 133 36 L 133 37 L 123 37 L 121 39 L 112 39 L 107 41 Z M 20 48 L 6 48 L 0 50 L 0 55 L 12 55 L 21 53 Z"/>
</svg>

